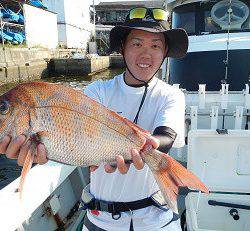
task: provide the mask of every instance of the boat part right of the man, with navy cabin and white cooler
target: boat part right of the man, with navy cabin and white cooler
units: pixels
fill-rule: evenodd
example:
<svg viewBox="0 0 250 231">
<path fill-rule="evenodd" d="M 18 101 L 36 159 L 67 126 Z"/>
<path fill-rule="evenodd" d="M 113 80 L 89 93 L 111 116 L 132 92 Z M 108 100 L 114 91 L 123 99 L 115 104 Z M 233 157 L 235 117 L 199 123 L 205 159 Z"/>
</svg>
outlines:
<svg viewBox="0 0 250 231">
<path fill-rule="evenodd" d="M 187 56 L 168 63 L 169 83 L 186 99 L 186 145 L 172 155 L 210 189 L 186 195 L 183 230 L 250 230 L 250 2 L 167 7 L 173 28 L 189 35 Z"/>
</svg>

